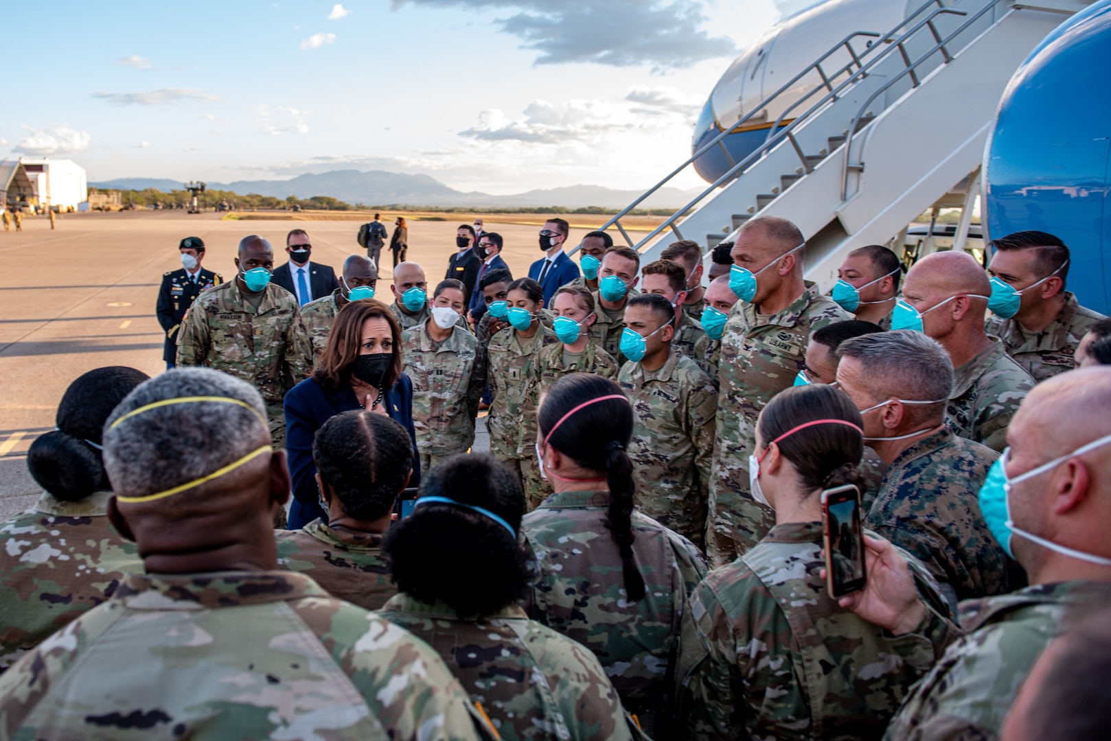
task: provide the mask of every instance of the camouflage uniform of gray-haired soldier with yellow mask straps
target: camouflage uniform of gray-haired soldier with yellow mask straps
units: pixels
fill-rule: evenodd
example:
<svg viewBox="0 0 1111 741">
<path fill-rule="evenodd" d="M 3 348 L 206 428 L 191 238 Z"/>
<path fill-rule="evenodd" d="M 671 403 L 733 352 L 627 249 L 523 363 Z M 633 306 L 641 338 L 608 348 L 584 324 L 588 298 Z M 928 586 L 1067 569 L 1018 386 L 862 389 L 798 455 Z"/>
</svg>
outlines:
<svg viewBox="0 0 1111 741">
<path fill-rule="evenodd" d="M 0 677 L 3 738 L 474 739 L 472 712 L 423 641 L 288 571 L 131 574 Z"/>
</svg>

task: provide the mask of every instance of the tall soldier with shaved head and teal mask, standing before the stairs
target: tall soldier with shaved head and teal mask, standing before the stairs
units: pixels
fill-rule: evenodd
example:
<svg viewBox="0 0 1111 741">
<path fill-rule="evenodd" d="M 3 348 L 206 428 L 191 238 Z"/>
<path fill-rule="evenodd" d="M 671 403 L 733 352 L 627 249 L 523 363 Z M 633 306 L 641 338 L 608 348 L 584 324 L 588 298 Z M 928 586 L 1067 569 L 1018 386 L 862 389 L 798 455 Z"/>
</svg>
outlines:
<svg viewBox="0 0 1111 741">
<path fill-rule="evenodd" d="M 810 333 L 849 319 L 815 284 L 802 280 L 804 244 L 790 221 L 761 217 L 745 222 L 731 251 L 734 267 L 748 274 L 738 281 L 737 290 L 747 284 L 749 301 L 733 307 L 721 338 L 707 528 L 712 565 L 732 561 L 773 524 L 771 510 L 749 493 L 748 461 L 757 415 L 772 397 L 794 383 Z"/>
</svg>

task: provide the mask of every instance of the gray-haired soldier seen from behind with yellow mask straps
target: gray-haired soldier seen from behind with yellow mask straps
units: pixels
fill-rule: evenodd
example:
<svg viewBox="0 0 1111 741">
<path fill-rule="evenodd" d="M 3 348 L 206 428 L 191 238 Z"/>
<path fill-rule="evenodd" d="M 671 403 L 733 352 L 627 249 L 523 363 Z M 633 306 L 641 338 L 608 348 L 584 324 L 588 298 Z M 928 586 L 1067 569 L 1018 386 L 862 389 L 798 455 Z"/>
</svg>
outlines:
<svg viewBox="0 0 1111 741">
<path fill-rule="evenodd" d="M 427 644 L 276 570 L 290 482 L 264 414 L 250 385 L 207 369 L 116 409 L 110 513 L 148 573 L 0 678 L 0 737 L 481 738 Z"/>
</svg>

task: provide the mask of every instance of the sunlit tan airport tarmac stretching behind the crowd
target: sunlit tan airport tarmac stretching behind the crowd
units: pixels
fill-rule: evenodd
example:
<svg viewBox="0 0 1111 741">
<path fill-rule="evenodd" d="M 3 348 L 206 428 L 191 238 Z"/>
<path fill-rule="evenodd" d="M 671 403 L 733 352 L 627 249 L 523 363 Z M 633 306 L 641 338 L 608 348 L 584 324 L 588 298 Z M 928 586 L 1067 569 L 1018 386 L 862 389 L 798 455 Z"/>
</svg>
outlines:
<svg viewBox="0 0 1111 741">
<path fill-rule="evenodd" d="M 526 276 L 542 254 L 538 228 L 483 218 L 490 231 L 504 237 L 503 257 L 513 276 Z M 408 257 L 424 266 L 430 292 L 456 251 L 459 223 L 409 221 Z M 392 232 L 392 221 L 387 227 Z M 164 370 L 154 304 L 162 273 L 181 267 L 178 242 L 200 237 L 207 248 L 203 267 L 229 279 L 242 237 L 269 239 L 281 264 L 290 229 L 304 229 L 312 260 L 337 273 L 347 256 L 363 253 L 356 242 L 357 221 L 237 221 L 214 213 L 134 211 L 67 214 L 53 231 L 46 217 L 26 218 L 22 232 L 0 231 L 0 520 L 38 498 L 27 450 L 53 429 L 58 402 L 73 379 L 103 366 L 130 366 L 151 375 Z M 572 230 L 568 243 L 578 244 L 585 232 Z M 392 301 L 388 250 L 382 258 L 378 292 Z"/>
</svg>

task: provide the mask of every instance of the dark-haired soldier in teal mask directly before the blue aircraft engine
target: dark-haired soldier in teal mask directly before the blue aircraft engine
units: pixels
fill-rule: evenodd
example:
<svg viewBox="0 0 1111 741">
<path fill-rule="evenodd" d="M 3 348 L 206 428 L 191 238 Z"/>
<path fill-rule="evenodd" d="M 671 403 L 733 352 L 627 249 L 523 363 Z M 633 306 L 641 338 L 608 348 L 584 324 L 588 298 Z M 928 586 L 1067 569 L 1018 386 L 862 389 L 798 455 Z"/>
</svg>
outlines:
<svg viewBox="0 0 1111 741">
<path fill-rule="evenodd" d="M 1003 316 L 988 317 L 988 334 L 1002 340 L 1007 354 L 1034 381 L 1075 368 L 1080 340 L 1105 317 L 1080 306 L 1064 290 L 1069 248 L 1042 231 L 1015 232 L 991 246 L 994 252 L 988 272 L 997 280 L 989 308 Z"/>
</svg>

